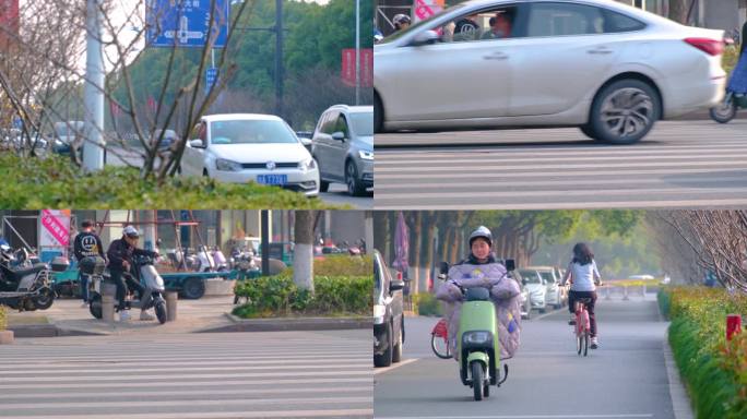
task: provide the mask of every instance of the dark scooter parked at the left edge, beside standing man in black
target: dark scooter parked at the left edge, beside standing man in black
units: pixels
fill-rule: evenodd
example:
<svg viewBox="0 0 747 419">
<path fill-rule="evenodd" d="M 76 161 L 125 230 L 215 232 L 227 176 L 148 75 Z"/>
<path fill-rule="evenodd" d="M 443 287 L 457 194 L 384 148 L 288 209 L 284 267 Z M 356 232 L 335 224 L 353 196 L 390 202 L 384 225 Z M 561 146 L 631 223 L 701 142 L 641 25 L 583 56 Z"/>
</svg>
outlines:
<svg viewBox="0 0 747 419">
<path fill-rule="evenodd" d="M 45 263 L 34 263 L 26 249 L 0 247 L 0 304 L 19 311 L 47 310 L 55 302 L 52 278 Z"/>
</svg>

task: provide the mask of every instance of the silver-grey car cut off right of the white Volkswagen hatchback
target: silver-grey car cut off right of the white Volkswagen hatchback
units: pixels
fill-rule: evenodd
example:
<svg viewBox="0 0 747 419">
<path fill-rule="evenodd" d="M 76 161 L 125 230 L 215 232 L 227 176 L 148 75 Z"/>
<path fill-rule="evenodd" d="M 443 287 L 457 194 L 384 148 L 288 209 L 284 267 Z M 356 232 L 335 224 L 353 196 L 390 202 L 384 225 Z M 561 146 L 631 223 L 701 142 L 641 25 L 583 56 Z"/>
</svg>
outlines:
<svg viewBox="0 0 747 419">
<path fill-rule="evenodd" d="M 332 106 L 319 118 L 311 141 L 322 192 L 331 182 L 344 182 L 351 195 L 374 187 L 372 106 Z"/>
</svg>

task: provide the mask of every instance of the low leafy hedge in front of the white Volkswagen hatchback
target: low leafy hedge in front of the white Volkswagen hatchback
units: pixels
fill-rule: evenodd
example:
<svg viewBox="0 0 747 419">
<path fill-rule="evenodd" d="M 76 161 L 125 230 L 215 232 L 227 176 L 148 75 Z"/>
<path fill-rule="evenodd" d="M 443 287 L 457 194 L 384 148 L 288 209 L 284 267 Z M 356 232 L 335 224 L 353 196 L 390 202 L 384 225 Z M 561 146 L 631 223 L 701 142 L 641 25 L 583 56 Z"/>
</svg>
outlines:
<svg viewBox="0 0 747 419">
<path fill-rule="evenodd" d="M 197 177 L 164 183 L 141 179 L 134 168 L 107 166 L 85 173 L 57 155 L 46 158 L 0 153 L 0 208 L 320 208 L 318 199 L 254 183 L 222 183 Z"/>
</svg>

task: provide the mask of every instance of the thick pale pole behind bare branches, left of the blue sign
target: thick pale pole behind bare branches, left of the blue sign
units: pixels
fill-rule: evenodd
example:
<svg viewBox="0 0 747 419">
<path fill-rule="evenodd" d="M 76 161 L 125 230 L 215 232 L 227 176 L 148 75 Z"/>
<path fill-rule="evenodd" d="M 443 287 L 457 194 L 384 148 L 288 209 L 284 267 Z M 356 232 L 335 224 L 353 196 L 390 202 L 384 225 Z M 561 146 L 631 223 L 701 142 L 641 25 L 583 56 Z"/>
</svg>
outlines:
<svg viewBox="0 0 747 419">
<path fill-rule="evenodd" d="M 87 0 L 85 51 L 85 128 L 83 167 L 104 168 L 104 51 L 102 49 L 102 1 Z M 70 129 L 70 128 L 68 128 Z"/>
</svg>

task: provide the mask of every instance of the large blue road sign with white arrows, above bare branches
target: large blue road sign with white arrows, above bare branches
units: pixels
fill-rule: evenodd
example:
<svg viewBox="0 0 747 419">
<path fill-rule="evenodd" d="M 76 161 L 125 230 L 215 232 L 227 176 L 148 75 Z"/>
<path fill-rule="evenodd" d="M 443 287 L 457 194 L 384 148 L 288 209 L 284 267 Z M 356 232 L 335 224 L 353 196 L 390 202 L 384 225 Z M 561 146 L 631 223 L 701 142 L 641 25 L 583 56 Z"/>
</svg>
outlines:
<svg viewBox="0 0 747 419">
<path fill-rule="evenodd" d="M 210 7 L 215 2 L 213 25 Z M 228 0 L 147 0 L 145 40 L 150 47 L 226 46 L 230 4 Z M 210 27 L 210 33 L 208 28 Z"/>
</svg>

